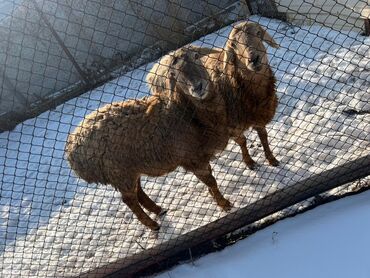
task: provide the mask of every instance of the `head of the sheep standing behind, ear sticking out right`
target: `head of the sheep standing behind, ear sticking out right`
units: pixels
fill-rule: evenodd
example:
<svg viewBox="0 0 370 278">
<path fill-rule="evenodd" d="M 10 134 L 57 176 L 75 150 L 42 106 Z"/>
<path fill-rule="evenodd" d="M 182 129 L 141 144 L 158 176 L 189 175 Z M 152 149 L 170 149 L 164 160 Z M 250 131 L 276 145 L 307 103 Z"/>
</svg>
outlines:
<svg viewBox="0 0 370 278">
<path fill-rule="evenodd" d="M 266 69 L 268 60 L 263 42 L 279 48 L 275 40 L 257 23 L 239 23 L 231 31 L 225 47 L 225 67 L 237 63 L 241 70 L 260 72 Z"/>
</svg>

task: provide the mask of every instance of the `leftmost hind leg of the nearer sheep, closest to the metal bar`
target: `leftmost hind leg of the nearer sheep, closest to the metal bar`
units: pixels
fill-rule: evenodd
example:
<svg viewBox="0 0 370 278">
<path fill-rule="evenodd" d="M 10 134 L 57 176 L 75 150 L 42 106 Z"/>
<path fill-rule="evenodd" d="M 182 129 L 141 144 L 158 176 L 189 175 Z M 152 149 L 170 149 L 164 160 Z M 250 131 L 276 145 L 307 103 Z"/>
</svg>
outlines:
<svg viewBox="0 0 370 278">
<path fill-rule="evenodd" d="M 122 201 L 131 209 L 131 211 L 136 215 L 139 221 L 147 226 L 153 231 L 159 230 L 159 225 L 157 222 L 152 220 L 149 215 L 141 208 L 136 190 L 126 191 L 119 189 L 122 195 Z"/>
</svg>

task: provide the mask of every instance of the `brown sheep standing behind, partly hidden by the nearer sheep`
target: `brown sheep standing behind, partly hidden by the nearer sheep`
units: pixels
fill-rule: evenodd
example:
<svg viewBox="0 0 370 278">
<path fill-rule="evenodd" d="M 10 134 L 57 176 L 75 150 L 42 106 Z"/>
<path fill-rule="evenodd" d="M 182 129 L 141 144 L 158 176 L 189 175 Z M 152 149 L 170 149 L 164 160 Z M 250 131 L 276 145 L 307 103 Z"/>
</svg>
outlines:
<svg viewBox="0 0 370 278">
<path fill-rule="evenodd" d="M 224 96 L 230 137 L 240 146 L 243 160 L 250 169 L 255 169 L 257 164 L 246 145 L 244 131 L 248 128 L 257 131 L 270 165 L 279 165 L 269 147 L 266 131 L 276 111 L 277 97 L 276 79 L 263 41 L 279 47 L 260 25 L 242 22 L 234 26 L 224 48 L 190 47 L 202 57 L 214 88 Z M 164 93 L 167 59 L 169 57 L 164 56 L 147 75 L 153 95 Z"/>
</svg>

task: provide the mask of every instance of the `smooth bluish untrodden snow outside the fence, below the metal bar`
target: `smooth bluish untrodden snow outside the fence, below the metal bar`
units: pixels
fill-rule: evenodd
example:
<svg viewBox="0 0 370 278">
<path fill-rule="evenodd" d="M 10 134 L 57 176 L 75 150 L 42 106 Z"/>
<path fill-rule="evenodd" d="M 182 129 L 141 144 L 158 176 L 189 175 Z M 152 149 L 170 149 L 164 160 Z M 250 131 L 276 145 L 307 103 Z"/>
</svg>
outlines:
<svg viewBox="0 0 370 278">
<path fill-rule="evenodd" d="M 157 278 L 368 278 L 370 191 L 282 220 Z"/>
</svg>

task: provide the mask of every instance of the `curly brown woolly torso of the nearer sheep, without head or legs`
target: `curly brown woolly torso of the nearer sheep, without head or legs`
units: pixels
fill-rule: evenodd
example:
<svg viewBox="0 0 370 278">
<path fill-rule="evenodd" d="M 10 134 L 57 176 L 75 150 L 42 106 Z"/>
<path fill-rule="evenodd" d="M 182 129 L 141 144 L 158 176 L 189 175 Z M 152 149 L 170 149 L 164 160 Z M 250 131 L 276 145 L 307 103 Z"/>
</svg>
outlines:
<svg viewBox="0 0 370 278">
<path fill-rule="evenodd" d="M 128 176 L 161 176 L 178 166 L 209 161 L 227 144 L 196 113 L 156 96 L 106 105 L 70 134 L 66 158 L 88 183 L 117 185 Z"/>
</svg>

